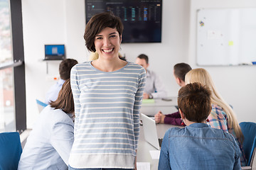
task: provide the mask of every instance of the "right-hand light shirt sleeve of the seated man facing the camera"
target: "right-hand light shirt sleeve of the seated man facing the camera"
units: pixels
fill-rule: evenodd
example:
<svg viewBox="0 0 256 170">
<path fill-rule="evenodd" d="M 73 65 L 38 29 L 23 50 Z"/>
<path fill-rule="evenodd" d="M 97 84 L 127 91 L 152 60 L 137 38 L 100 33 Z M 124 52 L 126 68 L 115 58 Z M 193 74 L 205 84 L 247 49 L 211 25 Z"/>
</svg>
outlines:
<svg viewBox="0 0 256 170">
<path fill-rule="evenodd" d="M 152 93 L 153 98 L 165 98 L 167 96 L 167 92 L 165 90 L 164 84 L 161 79 L 154 73 L 154 88 L 156 93 Z"/>
</svg>

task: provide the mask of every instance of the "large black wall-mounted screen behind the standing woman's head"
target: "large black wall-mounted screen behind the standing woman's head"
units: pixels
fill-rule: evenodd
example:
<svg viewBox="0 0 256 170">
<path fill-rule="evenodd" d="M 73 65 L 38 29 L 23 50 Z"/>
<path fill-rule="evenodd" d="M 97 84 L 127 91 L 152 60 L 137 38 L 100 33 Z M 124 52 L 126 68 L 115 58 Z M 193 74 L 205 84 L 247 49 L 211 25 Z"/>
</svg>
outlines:
<svg viewBox="0 0 256 170">
<path fill-rule="evenodd" d="M 112 11 L 124 24 L 122 42 L 161 42 L 162 0 L 85 0 L 86 23 Z"/>
</svg>

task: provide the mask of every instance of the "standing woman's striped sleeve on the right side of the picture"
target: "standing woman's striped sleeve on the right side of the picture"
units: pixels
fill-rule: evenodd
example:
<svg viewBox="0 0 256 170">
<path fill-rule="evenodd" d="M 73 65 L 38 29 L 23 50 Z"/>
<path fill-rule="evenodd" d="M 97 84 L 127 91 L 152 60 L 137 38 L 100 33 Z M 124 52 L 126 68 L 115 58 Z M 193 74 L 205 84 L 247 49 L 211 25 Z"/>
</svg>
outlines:
<svg viewBox="0 0 256 170">
<path fill-rule="evenodd" d="M 146 71 L 142 69 L 139 74 L 139 86 L 137 93 L 135 94 L 133 118 L 134 118 L 134 137 L 135 137 L 135 149 L 138 148 L 139 142 L 139 113 L 142 106 L 143 91 L 146 83 Z"/>
</svg>

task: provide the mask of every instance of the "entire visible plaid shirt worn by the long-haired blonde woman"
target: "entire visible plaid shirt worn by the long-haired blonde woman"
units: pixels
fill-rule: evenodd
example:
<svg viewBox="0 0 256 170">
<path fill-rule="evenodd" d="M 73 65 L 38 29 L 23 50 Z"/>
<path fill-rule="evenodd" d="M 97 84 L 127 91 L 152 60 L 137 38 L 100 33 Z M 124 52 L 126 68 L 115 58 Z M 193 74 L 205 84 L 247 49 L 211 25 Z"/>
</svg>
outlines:
<svg viewBox="0 0 256 170">
<path fill-rule="evenodd" d="M 238 137 L 235 135 L 235 130 L 231 127 L 231 125 L 228 123 L 228 116 L 223 111 L 223 108 L 216 104 L 212 104 L 212 111 L 210 112 L 210 115 L 208 116 L 209 123 L 211 128 L 216 129 L 222 129 L 224 132 L 229 132 L 233 137 L 235 138 L 235 141 L 238 143 L 240 147 L 240 161 L 241 166 L 246 166 L 246 159 L 245 159 L 245 152 L 242 148 L 242 142 Z"/>
</svg>

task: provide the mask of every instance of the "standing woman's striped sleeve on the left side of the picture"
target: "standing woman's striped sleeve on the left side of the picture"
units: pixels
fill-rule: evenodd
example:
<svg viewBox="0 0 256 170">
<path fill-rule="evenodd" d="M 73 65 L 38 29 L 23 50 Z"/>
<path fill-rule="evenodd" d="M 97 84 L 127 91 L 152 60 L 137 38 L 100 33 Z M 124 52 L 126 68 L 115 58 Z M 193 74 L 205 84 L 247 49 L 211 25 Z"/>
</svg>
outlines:
<svg viewBox="0 0 256 170">
<path fill-rule="evenodd" d="M 75 103 L 75 130 L 78 129 L 78 122 L 80 116 L 80 89 L 79 89 L 79 77 L 77 66 L 74 66 L 70 72 L 70 84 Z"/>
</svg>

